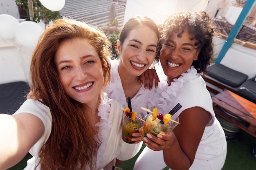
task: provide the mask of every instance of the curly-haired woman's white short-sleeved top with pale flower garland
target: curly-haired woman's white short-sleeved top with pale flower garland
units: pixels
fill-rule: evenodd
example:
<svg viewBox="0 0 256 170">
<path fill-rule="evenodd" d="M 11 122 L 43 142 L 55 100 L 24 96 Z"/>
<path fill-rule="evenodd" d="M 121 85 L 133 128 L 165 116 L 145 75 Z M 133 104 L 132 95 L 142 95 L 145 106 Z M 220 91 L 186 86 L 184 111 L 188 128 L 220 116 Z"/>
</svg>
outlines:
<svg viewBox="0 0 256 170">
<path fill-rule="evenodd" d="M 191 66 L 186 73 L 171 82 L 168 86 L 167 76 L 162 70 L 161 64 L 155 64 L 157 75 L 160 78 L 158 88 L 151 94 L 149 102 L 154 104 L 162 103 L 171 108 L 180 103 L 182 108 L 177 111 L 177 115 L 183 110 L 191 107 L 201 107 L 211 114 L 211 120 L 207 124 L 195 159 L 207 160 L 222 154 L 227 149 L 225 133 L 215 117 L 211 95 L 206 88 L 204 79 Z"/>
</svg>

